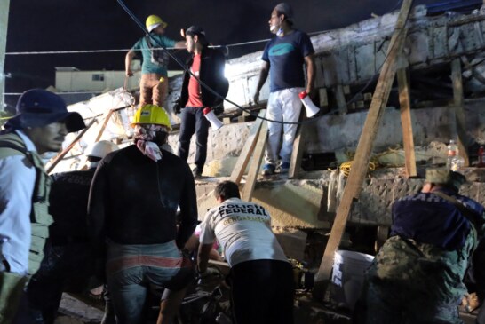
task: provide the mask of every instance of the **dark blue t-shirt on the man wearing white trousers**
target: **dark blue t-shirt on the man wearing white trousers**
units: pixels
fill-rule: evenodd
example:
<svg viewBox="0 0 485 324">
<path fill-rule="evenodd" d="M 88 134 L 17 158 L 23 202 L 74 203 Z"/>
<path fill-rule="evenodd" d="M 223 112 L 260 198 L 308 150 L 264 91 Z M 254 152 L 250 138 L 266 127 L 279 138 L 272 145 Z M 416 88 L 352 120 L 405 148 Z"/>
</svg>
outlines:
<svg viewBox="0 0 485 324">
<path fill-rule="evenodd" d="M 295 29 L 291 34 L 276 36 L 266 44 L 262 59 L 269 62 L 269 90 L 305 87 L 303 64 L 314 53 L 306 33 Z"/>
</svg>

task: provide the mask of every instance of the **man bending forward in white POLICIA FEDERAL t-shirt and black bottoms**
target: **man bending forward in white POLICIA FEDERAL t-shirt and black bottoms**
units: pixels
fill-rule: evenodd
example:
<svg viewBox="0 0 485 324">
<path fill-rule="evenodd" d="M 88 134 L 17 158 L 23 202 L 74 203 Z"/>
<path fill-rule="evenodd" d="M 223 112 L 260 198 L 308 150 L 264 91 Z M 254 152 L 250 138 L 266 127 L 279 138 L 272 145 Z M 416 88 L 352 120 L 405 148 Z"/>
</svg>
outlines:
<svg viewBox="0 0 485 324">
<path fill-rule="evenodd" d="M 231 266 L 236 323 L 293 323 L 292 268 L 271 230 L 269 213 L 243 202 L 232 181 L 219 183 L 215 196 L 219 205 L 207 212 L 201 226 L 197 270 L 206 271 L 217 239 Z"/>
</svg>

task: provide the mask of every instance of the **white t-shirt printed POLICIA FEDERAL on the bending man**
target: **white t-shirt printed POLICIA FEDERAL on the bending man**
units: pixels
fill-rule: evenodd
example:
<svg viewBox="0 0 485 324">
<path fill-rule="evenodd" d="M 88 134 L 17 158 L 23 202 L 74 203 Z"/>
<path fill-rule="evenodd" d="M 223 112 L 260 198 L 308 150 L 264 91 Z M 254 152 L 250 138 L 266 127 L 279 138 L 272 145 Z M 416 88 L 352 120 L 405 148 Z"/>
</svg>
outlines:
<svg viewBox="0 0 485 324">
<path fill-rule="evenodd" d="M 217 240 L 231 266 L 251 260 L 288 261 L 271 230 L 266 209 L 231 198 L 209 210 L 203 218 L 201 244 Z"/>
</svg>

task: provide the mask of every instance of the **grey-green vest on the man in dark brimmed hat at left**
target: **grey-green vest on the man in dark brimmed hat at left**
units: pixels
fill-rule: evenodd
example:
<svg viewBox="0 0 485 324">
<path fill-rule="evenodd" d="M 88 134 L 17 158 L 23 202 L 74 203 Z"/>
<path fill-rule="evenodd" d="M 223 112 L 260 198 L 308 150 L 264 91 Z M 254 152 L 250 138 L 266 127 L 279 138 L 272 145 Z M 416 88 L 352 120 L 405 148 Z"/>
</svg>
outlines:
<svg viewBox="0 0 485 324">
<path fill-rule="evenodd" d="M 0 159 L 12 155 L 24 155 L 36 168 L 36 184 L 32 194 L 30 212 L 31 243 L 28 253 L 28 273 L 34 274 L 44 258 L 44 245 L 49 237 L 49 225 L 53 219 L 49 214 L 49 192 L 51 178 L 44 170 L 44 162 L 36 152 L 27 151 L 21 138 L 15 133 L 0 135 Z"/>
</svg>

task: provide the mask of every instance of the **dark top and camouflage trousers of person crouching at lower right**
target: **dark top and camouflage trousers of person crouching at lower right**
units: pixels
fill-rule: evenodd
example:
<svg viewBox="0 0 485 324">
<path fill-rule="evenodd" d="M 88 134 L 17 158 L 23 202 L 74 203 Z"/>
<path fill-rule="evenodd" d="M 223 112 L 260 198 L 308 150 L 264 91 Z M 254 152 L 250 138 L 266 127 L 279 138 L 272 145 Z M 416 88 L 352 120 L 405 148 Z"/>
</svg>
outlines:
<svg viewBox="0 0 485 324">
<path fill-rule="evenodd" d="M 479 203 L 459 194 L 448 191 L 446 194 L 483 217 L 484 209 Z M 442 210 L 448 210 L 449 214 Z M 396 214 L 404 219 L 396 219 Z M 463 278 L 477 244 L 476 230 L 482 233 L 483 226 L 476 229 L 452 203 L 433 193 L 403 198 L 394 203 L 393 215 L 391 235 L 394 236 L 379 250 L 366 273 L 362 294 L 364 312 L 356 314 L 357 321 L 463 323 L 458 317 L 457 305 L 466 293 Z M 458 226 L 458 221 L 461 222 L 458 225 L 466 226 Z M 397 231 L 396 224 L 404 229 Z M 417 227 L 424 227 L 425 231 L 419 233 Z M 457 228 L 461 233 L 455 231 Z M 432 233 L 433 229 L 438 234 Z M 449 241 L 454 240 L 452 244 L 444 239 L 447 235 Z"/>
</svg>

